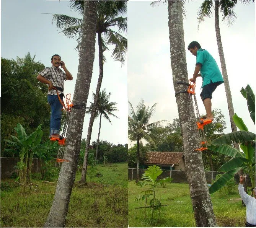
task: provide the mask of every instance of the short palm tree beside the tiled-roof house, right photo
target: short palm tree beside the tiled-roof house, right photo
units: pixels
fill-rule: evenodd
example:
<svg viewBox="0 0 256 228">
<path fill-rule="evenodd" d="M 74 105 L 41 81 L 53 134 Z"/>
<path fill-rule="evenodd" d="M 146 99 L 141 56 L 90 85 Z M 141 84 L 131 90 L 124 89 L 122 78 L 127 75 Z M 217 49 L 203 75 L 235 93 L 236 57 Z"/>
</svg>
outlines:
<svg viewBox="0 0 256 228">
<path fill-rule="evenodd" d="M 154 139 L 161 137 L 154 134 L 151 129 L 152 126 L 154 127 L 154 129 L 157 129 L 157 126 L 160 124 L 160 122 L 163 121 L 148 124 L 150 117 L 152 117 L 155 111 L 155 106 L 157 105 L 157 103 L 149 108 L 149 106 L 146 107 L 144 101 L 141 100 L 136 107 L 137 112 L 134 111 L 134 108 L 132 107 L 130 101 L 128 101 L 128 103 L 130 105 L 130 115 L 128 116 L 128 138 L 131 141 L 137 142 L 137 181 L 139 181 L 139 164 L 140 158 L 142 157 L 140 153 L 140 140 L 142 140 L 143 138 L 156 146 Z"/>
</svg>

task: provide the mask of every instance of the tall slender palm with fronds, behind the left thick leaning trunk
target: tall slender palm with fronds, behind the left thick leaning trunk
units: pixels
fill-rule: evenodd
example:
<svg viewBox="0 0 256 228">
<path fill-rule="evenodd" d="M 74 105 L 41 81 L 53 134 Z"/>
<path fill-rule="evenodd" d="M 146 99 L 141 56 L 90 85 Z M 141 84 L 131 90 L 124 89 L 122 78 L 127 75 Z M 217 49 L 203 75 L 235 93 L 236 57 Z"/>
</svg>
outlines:
<svg viewBox="0 0 256 228">
<path fill-rule="evenodd" d="M 82 12 L 83 1 L 70 1 L 71 7 Z M 120 32 L 127 33 L 127 18 L 119 16 L 127 11 L 126 1 L 100 1 L 98 5 L 98 19 L 97 19 L 97 28 L 96 33 L 98 34 L 98 46 L 99 46 L 99 78 L 96 87 L 95 99 L 93 102 L 93 109 L 91 110 L 91 117 L 88 126 L 86 146 L 85 146 L 85 157 L 83 162 L 82 169 L 82 178 L 80 181 L 85 182 L 85 173 L 86 173 L 86 163 L 87 163 L 87 154 L 88 147 L 91 141 L 91 132 L 93 127 L 93 122 L 95 119 L 96 113 L 96 104 L 99 96 L 99 91 L 101 88 L 101 82 L 103 79 L 103 62 L 106 61 L 103 52 L 108 50 L 108 45 L 114 45 L 114 49 L 111 57 L 114 60 L 124 64 L 125 54 L 127 51 L 127 39 L 120 34 Z M 80 46 L 80 33 L 82 23 L 81 19 L 72 18 L 66 15 L 53 15 L 53 21 L 56 21 L 57 28 L 62 28 L 62 32 L 65 36 L 70 38 L 77 38 L 79 49 Z M 117 27 L 118 32 L 111 29 L 112 27 Z M 103 37 L 102 37 L 103 35 Z"/>
</svg>

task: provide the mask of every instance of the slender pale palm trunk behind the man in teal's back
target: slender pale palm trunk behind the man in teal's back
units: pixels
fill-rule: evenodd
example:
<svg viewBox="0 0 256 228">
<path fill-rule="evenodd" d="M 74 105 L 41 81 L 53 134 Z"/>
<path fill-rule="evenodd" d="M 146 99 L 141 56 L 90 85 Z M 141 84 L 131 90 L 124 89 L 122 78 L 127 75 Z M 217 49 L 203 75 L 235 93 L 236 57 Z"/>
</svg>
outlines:
<svg viewBox="0 0 256 228">
<path fill-rule="evenodd" d="M 229 82 L 228 82 L 227 67 L 226 67 L 226 62 L 225 62 L 225 57 L 224 57 L 224 52 L 223 52 L 223 47 L 222 47 L 222 41 L 221 41 L 221 36 L 220 36 L 218 8 L 219 8 L 219 1 L 215 1 L 215 5 L 214 5 L 214 23 L 215 23 L 215 33 L 216 33 L 217 45 L 218 45 L 218 54 L 220 56 L 220 65 L 221 65 L 222 76 L 223 76 L 223 80 L 224 80 L 225 92 L 226 92 L 226 96 L 227 96 L 228 113 L 229 113 L 231 130 L 232 130 L 232 132 L 235 132 L 237 130 L 235 122 L 233 121 L 233 116 L 234 116 L 235 112 L 234 112 L 234 107 L 233 107 L 233 102 L 232 102 L 230 86 L 229 86 Z M 239 145 L 236 142 L 234 142 L 234 147 L 237 150 L 240 150 Z M 244 174 L 244 172 L 241 169 L 238 172 L 238 175 L 241 176 L 243 174 Z M 243 182 L 243 186 L 244 186 L 245 192 L 247 194 L 247 186 L 246 186 L 245 181 Z M 243 203 L 243 205 L 245 205 L 243 200 L 242 200 L 242 203 Z"/>
</svg>

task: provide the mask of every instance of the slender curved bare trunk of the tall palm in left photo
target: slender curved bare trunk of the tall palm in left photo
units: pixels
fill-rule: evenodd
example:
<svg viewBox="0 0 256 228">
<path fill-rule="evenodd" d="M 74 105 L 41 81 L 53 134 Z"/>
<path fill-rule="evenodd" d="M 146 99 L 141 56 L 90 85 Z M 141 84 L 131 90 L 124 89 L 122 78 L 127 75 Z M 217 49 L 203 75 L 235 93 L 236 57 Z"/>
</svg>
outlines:
<svg viewBox="0 0 256 228">
<path fill-rule="evenodd" d="M 89 126 L 88 126 L 88 131 L 87 131 L 87 138 L 86 138 L 86 145 L 85 145 L 85 155 L 88 155 L 88 150 L 89 150 L 89 145 L 91 142 L 91 132 L 93 130 L 93 122 L 95 119 L 95 114 L 96 114 L 96 108 L 97 108 L 97 102 L 99 98 L 99 91 L 101 88 L 101 83 L 102 83 L 102 78 L 103 78 L 103 50 L 102 50 L 102 37 L 101 33 L 98 33 L 98 46 L 99 46 L 99 78 L 98 78 L 98 83 L 96 87 L 96 92 L 95 92 L 95 98 L 93 101 L 93 108 L 91 110 L 91 117 L 89 121 Z M 86 182 L 86 173 L 87 173 L 87 159 L 83 159 L 83 168 L 82 168 L 82 174 L 81 174 L 81 182 Z"/>
</svg>

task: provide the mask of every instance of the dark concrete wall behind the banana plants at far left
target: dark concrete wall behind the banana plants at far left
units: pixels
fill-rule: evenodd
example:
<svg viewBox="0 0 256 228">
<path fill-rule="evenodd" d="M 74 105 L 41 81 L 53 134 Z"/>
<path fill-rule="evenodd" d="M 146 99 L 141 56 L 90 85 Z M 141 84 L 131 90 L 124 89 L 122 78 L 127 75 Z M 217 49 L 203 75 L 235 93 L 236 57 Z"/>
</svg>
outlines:
<svg viewBox="0 0 256 228">
<path fill-rule="evenodd" d="M 11 174 L 15 172 L 14 166 L 20 161 L 19 158 L 0 158 L 1 162 L 1 180 L 10 178 Z M 41 172 L 41 165 L 39 158 L 33 158 L 32 173 Z"/>
</svg>

